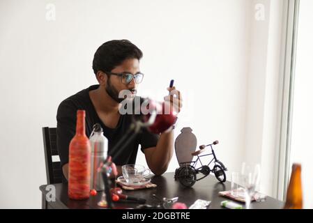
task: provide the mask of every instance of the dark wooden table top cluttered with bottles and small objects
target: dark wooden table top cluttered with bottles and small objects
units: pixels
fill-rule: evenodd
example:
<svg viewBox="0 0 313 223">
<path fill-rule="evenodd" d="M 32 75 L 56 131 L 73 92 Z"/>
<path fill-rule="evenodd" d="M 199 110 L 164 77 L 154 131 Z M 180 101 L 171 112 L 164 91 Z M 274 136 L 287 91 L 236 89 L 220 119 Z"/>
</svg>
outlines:
<svg viewBox="0 0 313 223">
<path fill-rule="evenodd" d="M 153 198 L 152 194 L 156 194 L 158 197 L 173 198 L 178 197 L 178 202 L 185 203 L 188 207 L 194 203 L 197 199 L 203 199 L 211 201 L 211 205 L 208 209 L 220 209 L 221 201 L 228 200 L 225 197 L 220 197 L 218 192 L 224 190 L 231 190 L 231 183 L 229 181 L 218 183 L 214 176 L 207 176 L 206 178 L 197 181 L 191 188 L 183 187 L 177 180 L 174 180 L 174 173 L 165 173 L 162 176 L 153 176 L 152 183 L 158 185 L 155 188 L 149 188 L 144 190 L 123 190 L 123 194 L 130 195 L 132 197 L 139 197 L 146 199 L 147 204 L 156 205 L 159 201 Z M 68 198 L 68 185 L 65 183 L 54 184 L 55 187 L 55 201 L 47 201 L 46 195 L 49 197 L 51 186 L 40 186 L 42 192 L 42 208 L 100 208 L 97 203 L 101 199 L 101 193 L 98 193 L 96 197 L 90 197 L 83 201 L 75 201 Z M 136 208 L 138 203 L 131 201 L 118 201 L 114 202 L 115 208 Z M 252 202 L 252 209 L 281 209 L 284 206 L 282 201 L 273 199 L 272 197 L 266 197 L 266 201 Z"/>
</svg>

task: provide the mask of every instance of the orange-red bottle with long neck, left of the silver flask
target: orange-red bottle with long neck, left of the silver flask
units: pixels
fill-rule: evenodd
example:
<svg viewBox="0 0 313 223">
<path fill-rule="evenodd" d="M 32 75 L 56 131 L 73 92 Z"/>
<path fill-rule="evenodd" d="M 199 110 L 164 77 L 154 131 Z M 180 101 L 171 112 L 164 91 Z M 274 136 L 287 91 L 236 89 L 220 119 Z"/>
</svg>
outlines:
<svg viewBox="0 0 313 223">
<path fill-rule="evenodd" d="M 76 134 L 70 141 L 68 197 L 88 199 L 90 192 L 91 145 L 85 133 L 85 111 L 77 110 Z"/>
</svg>

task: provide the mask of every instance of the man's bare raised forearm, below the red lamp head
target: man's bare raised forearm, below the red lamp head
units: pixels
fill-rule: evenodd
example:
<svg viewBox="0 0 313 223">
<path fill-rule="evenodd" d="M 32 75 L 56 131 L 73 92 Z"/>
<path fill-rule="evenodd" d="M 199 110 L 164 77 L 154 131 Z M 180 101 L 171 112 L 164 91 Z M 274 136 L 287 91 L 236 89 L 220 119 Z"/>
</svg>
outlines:
<svg viewBox="0 0 313 223">
<path fill-rule="evenodd" d="M 171 157 L 173 156 L 174 131 L 163 132 L 158 144 L 151 155 L 150 169 L 156 175 L 167 171 Z"/>
</svg>

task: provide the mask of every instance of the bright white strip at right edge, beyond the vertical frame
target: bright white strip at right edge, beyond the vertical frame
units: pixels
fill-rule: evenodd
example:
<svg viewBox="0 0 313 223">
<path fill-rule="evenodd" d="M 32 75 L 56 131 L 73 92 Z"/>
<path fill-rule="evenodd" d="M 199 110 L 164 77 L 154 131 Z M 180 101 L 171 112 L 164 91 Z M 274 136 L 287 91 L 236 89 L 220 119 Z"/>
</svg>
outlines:
<svg viewBox="0 0 313 223">
<path fill-rule="evenodd" d="M 302 164 L 303 204 L 305 208 L 313 208 L 312 9 L 313 1 L 300 1 L 290 155 L 291 166 L 294 162 Z"/>
</svg>

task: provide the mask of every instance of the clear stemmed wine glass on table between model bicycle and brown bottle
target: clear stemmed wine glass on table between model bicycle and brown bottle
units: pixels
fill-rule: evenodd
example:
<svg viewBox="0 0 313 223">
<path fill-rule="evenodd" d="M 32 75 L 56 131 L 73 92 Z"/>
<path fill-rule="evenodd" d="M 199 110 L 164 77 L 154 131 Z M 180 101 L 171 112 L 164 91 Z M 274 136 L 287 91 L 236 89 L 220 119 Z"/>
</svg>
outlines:
<svg viewBox="0 0 313 223">
<path fill-rule="evenodd" d="M 259 189 L 260 171 L 259 164 L 246 164 L 243 162 L 241 176 L 242 186 L 245 190 L 245 206 L 247 209 L 250 209 L 252 197 Z"/>
</svg>

